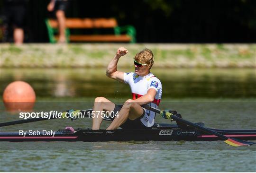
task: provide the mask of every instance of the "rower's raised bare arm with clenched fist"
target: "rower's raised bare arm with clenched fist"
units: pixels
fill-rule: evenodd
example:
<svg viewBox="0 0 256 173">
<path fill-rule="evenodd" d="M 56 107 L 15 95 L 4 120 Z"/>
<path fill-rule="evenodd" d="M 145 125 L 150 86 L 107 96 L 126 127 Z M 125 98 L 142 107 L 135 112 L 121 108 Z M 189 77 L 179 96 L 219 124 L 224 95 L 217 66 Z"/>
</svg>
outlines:
<svg viewBox="0 0 256 173">
<path fill-rule="evenodd" d="M 128 51 L 124 47 L 120 47 L 118 49 L 116 55 L 110 61 L 109 65 L 107 67 L 106 75 L 109 78 L 118 80 L 120 82 L 124 82 L 124 72 L 117 70 L 117 64 L 118 64 L 119 58 L 121 56 L 124 56 L 126 53 L 128 53 Z"/>
</svg>

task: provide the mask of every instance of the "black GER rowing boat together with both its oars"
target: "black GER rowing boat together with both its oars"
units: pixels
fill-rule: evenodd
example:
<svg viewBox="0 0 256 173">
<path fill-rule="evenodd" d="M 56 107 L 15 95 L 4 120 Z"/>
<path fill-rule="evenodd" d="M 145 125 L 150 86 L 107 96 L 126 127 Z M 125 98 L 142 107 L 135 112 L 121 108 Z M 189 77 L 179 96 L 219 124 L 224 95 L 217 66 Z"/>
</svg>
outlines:
<svg viewBox="0 0 256 173">
<path fill-rule="evenodd" d="M 153 111 L 162 115 L 165 119 L 176 121 L 174 124 L 157 124 L 155 123 L 152 129 L 146 130 L 128 130 L 128 129 L 117 129 L 117 130 L 82 130 L 81 128 L 74 130 L 72 127 L 66 127 L 64 130 L 57 130 L 50 133 L 43 131 L 28 131 L 28 133 L 19 132 L 0 132 L 0 141 L 11 141 L 11 142 L 22 142 L 22 141 L 171 141 L 171 140 L 187 140 L 187 141 L 214 141 L 223 140 L 225 143 L 234 146 L 250 146 L 255 142 L 245 140 L 256 140 L 256 130 L 221 130 L 221 129 L 210 129 L 203 127 L 204 124 L 192 123 L 184 120 L 180 114 L 173 110 L 159 110 L 157 108 L 148 106 L 147 104 L 142 105 L 145 109 Z M 68 110 L 68 114 L 77 112 L 89 115 L 92 109 L 88 110 Z M 66 114 L 63 112 L 62 114 Z M 88 116 L 90 117 L 90 116 Z M 50 119 L 55 119 L 51 117 Z M 0 123 L 0 127 L 23 124 L 35 121 L 50 120 L 47 118 L 31 118 L 27 120 L 10 121 Z M 76 120 L 77 117 L 71 120 Z M 108 118 L 103 120 L 111 121 Z M 27 135 L 26 135 L 27 134 Z"/>
</svg>

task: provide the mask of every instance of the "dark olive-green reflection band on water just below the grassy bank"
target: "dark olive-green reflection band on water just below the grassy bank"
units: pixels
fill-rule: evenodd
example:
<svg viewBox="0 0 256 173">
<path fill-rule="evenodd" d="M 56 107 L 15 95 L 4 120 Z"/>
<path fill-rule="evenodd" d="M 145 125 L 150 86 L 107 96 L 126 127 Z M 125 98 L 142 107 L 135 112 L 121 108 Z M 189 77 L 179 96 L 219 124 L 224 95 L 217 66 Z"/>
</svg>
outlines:
<svg viewBox="0 0 256 173">
<path fill-rule="evenodd" d="M 120 69 L 133 71 L 133 69 Z M 255 69 L 153 69 L 163 97 L 256 97 Z M 1 69 L 1 95 L 14 80 L 28 82 L 43 97 L 130 97 L 127 85 L 105 69 Z"/>
</svg>

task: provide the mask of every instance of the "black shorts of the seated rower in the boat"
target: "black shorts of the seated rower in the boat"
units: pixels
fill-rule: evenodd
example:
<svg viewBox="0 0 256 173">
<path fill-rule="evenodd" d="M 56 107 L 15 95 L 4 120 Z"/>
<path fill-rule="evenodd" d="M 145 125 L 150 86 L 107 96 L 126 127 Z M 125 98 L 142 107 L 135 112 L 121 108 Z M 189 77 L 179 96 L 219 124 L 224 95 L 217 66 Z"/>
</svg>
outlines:
<svg viewBox="0 0 256 173">
<path fill-rule="evenodd" d="M 115 108 L 113 110 L 113 112 L 116 114 L 117 112 L 119 112 L 122 108 L 122 105 L 115 105 Z M 140 119 L 142 119 L 142 117 L 144 117 L 145 115 L 145 110 L 143 110 L 143 114 L 135 119 L 135 120 L 130 120 L 130 119 L 127 119 L 127 121 L 125 121 L 125 123 L 123 123 L 120 127 L 122 129 L 152 129 L 152 127 L 146 127 L 141 121 Z M 113 121 L 115 119 L 115 117 L 113 118 L 110 118 L 111 121 Z"/>
</svg>

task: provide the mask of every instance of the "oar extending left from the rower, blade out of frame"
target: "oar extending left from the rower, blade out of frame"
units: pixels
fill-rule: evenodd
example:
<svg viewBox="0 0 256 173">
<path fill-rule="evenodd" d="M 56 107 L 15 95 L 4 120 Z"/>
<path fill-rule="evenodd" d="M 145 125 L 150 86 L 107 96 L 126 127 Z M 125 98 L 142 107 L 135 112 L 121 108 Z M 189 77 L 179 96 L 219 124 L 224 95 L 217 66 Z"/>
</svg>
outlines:
<svg viewBox="0 0 256 173">
<path fill-rule="evenodd" d="M 73 111 L 73 110 L 70 110 L 69 112 L 81 112 L 82 114 L 86 115 L 86 116 L 89 116 L 89 112 L 91 112 L 92 109 L 87 109 L 87 110 L 76 110 L 76 111 Z M 62 112 L 62 115 L 64 116 L 65 113 L 67 112 Z M 11 126 L 11 125 L 16 125 L 16 124 L 23 124 L 23 123 L 28 123 L 28 122 L 36 122 L 36 121 L 45 121 L 45 120 L 52 120 L 52 119 L 56 119 L 56 118 L 59 118 L 58 116 L 52 116 L 50 118 L 30 118 L 30 119 L 27 119 L 27 120 L 18 120 L 18 121 L 9 121 L 9 122 L 2 122 L 0 123 L 0 127 L 4 127 L 4 126 Z M 71 119 L 72 120 L 72 119 Z"/>
</svg>

